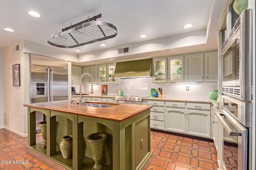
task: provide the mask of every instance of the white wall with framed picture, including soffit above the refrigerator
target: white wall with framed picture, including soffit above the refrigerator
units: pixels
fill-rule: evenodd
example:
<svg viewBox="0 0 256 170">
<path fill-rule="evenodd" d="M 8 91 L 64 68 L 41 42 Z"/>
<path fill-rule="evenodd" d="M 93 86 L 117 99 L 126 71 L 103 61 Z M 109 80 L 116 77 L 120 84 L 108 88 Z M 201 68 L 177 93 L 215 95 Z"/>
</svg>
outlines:
<svg viewBox="0 0 256 170">
<path fill-rule="evenodd" d="M 13 51 L 15 45 L 20 45 L 19 51 Z M 30 41 L 20 41 L 9 47 L 0 50 L 0 85 L 4 82 L 0 90 L 0 127 L 4 126 L 22 137 L 27 136 L 27 108 L 23 104 L 30 103 L 30 59 L 29 53 L 77 61 L 77 55 L 60 49 L 46 47 Z M 20 86 L 13 86 L 12 65 L 20 64 Z M 2 71 L 2 70 L 3 71 Z M 1 77 L 1 75 L 4 75 Z M 3 79 L 3 80 L 2 80 Z M 1 86 L 0 86 L 1 87 Z M 3 96 L 3 97 L 2 97 Z M 3 99 L 2 99 L 2 98 Z M 4 102 L 2 102 L 3 100 Z M 1 110 L 3 109 L 3 111 Z M 3 118 L 1 118 L 3 117 Z M 2 123 L 3 121 L 3 123 Z"/>
</svg>

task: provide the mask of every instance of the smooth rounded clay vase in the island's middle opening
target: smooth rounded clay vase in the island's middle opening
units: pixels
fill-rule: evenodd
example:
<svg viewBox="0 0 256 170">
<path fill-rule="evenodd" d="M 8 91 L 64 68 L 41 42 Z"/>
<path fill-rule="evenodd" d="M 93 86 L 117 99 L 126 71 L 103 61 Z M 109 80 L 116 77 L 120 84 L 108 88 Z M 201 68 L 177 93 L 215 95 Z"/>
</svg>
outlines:
<svg viewBox="0 0 256 170">
<path fill-rule="evenodd" d="M 60 141 L 60 152 L 64 159 L 72 158 L 72 144 L 73 140 L 71 135 L 62 137 L 62 141 Z"/>
</svg>

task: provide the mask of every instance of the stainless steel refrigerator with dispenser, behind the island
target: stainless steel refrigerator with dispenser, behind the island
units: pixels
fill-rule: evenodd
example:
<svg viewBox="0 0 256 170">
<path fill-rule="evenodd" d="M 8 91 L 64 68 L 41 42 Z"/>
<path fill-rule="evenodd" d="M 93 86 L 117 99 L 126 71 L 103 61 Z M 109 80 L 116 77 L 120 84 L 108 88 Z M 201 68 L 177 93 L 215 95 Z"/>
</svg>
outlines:
<svg viewBox="0 0 256 170">
<path fill-rule="evenodd" d="M 30 55 L 30 102 L 68 100 L 68 61 Z M 36 113 L 36 131 L 43 114 Z"/>
</svg>

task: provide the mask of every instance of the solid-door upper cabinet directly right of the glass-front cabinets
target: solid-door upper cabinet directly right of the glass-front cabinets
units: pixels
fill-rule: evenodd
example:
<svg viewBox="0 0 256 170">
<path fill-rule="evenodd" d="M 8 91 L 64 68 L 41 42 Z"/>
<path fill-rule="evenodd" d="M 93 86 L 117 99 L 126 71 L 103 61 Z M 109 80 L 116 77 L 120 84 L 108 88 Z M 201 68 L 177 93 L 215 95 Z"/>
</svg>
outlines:
<svg viewBox="0 0 256 170">
<path fill-rule="evenodd" d="M 185 56 L 185 82 L 204 82 L 204 53 Z"/>
</svg>

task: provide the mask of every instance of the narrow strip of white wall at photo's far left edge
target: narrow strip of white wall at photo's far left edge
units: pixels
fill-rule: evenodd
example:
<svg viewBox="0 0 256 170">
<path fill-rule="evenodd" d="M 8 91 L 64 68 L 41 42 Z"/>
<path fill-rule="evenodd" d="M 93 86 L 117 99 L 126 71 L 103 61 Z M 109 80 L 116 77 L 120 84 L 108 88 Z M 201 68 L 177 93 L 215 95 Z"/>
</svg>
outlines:
<svg viewBox="0 0 256 170">
<path fill-rule="evenodd" d="M 0 48 L 0 129 L 4 128 L 4 52 Z"/>
</svg>

